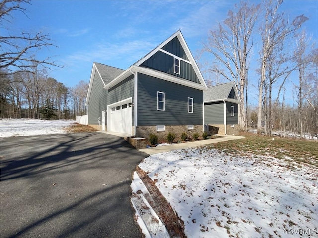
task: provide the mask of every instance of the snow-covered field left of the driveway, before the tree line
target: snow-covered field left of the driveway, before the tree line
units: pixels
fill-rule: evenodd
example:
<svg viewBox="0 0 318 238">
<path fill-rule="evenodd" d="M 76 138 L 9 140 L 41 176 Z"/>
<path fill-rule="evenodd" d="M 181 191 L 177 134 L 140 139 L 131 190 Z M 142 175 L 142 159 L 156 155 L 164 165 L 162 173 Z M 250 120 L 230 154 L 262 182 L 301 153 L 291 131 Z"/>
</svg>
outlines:
<svg viewBox="0 0 318 238">
<path fill-rule="evenodd" d="M 0 137 L 63 134 L 74 120 L 1 119 Z"/>
</svg>

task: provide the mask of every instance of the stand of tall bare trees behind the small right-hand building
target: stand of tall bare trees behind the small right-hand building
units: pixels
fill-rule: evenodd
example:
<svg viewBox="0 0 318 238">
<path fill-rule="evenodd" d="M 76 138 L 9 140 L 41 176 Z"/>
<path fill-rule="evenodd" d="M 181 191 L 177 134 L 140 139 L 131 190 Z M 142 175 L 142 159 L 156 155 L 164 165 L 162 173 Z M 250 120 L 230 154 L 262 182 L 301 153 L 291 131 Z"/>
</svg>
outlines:
<svg viewBox="0 0 318 238">
<path fill-rule="evenodd" d="M 201 57 L 208 85 L 234 81 L 240 99 L 241 130 L 253 125 L 258 132 L 291 130 L 318 134 L 318 48 L 302 29 L 308 20 L 292 20 L 281 11 L 282 0 L 259 4 L 241 1 L 224 21 L 209 32 Z M 251 64 L 258 77 L 250 78 Z M 258 65 L 258 66 L 257 66 Z M 292 87 L 287 87 L 287 82 Z M 259 92 L 258 107 L 249 109 L 250 86 Z M 294 95 L 292 105 L 286 95 Z M 253 115 L 253 119 L 251 119 Z M 251 122 L 253 122 L 251 124 Z"/>
</svg>

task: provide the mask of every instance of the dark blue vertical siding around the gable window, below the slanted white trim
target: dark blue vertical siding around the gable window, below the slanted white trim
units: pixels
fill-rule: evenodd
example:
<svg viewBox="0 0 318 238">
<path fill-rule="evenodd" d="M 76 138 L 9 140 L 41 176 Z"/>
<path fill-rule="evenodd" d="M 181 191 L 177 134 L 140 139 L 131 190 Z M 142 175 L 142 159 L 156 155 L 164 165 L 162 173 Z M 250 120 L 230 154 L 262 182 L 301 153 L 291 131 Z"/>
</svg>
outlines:
<svg viewBox="0 0 318 238">
<path fill-rule="evenodd" d="M 173 56 L 170 56 L 162 51 L 156 52 L 152 57 L 142 63 L 141 66 L 165 72 L 195 83 L 200 83 L 200 80 L 196 75 L 192 65 L 182 60 L 180 60 L 180 74 L 174 73 Z"/>
</svg>

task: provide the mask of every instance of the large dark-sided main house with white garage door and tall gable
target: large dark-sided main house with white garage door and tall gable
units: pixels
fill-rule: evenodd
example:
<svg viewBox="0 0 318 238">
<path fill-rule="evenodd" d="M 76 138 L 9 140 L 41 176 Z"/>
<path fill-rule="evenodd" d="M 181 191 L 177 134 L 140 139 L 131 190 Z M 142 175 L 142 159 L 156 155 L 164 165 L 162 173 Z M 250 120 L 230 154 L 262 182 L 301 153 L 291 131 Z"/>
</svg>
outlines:
<svg viewBox="0 0 318 238">
<path fill-rule="evenodd" d="M 126 70 L 93 63 L 86 98 L 88 125 L 165 140 L 203 131 L 205 81 L 181 31 Z"/>
</svg>

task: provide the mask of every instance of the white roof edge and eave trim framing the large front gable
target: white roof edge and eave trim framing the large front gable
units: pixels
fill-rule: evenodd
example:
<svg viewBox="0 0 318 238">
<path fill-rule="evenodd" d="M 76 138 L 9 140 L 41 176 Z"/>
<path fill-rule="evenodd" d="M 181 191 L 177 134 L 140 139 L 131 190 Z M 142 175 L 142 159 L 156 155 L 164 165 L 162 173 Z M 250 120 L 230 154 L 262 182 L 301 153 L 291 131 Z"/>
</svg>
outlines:
<svg viewBox="0 0 318 238">
<path fill-rule="evenodd" d="M 169 75 L 169 74 L 165 74 L 163 72 L 157 71 L 154 72 L 155 70 L 151 70 L 151 69 L 147 69 L 144 67 L 140 67 L 140 65 L 142 63 L 144 63 L 146 60 L 148 60 L 150 57 L 152 57 L 156 52 L 158 51 L 164 51 L 167 54 L 171 54 L 169 52 L 166 52 L 163 48 L 166 44 L 168 44 L 173 38 L 177 37 L 181 46 L 183 47 L 183 50 L 186 54 L 186 57 L 189 60 L 189 63 L 192 65 L 194 72 L 196 73 L 200 83 L 194 83 L 191 82 L 189 80 L 184 80 L 182 78 L 176 77 L 174 75 Z M 186 60 L 186 61 L 188 61 Z M 127 70 L 125 70 L 124 72 L 122 72 L 118 77 L 116 77 L 114 80 L 112 80 L 110 83 L 106 84 L 105 88 L 111 88 L 113 86 L 115 86 L 116 84 L 118 84 L 119 82 L 121 82 L 122 80 L 124 80 L 126 77 L 128 77 L 129 75 L 135 73 L 135 72 L 142 72 L 142 73 L 146 73 L 146 74 L 150 74 L 151 76 L 155 76 L 167 81 L 171 81 L 171 82 L 175 82 L 181 85 L 186 85 L 188 87 L 193 87 L 193 88 L 198 88 L 201 90 L 206 90 L 207 89 L 207 85 L 204 81 L 204 78 L 199 70 L 198 65 L 196 64 L 190 49 L 188 47 L 188 45 L 186 44 L 182 33 L 180 30 L 178 30 L 177 32 L 175 32 L 173 35 L 171 35 L 168 39 L 166 39 L 165 41 L 163 41 L 161 44 L 159 44 L 159 46 L 157 46 L 155 49 L 153 49 L 152 51 L 150 51 L 148 54 L 146 54 L 143 58 L 141 58 L 140 60 L 138 60 L 136 63 L 134 63 L 132 66 L 130 66 Z"/>
</svg>

